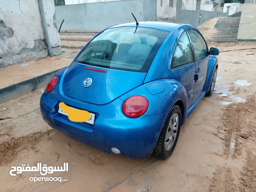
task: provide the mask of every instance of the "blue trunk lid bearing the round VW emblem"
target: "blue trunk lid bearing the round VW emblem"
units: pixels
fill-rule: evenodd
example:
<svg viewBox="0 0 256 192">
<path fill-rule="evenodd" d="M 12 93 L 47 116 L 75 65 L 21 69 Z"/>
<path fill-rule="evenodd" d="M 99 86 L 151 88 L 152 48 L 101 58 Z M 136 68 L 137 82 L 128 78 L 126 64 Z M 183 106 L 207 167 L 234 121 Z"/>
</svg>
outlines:
<svg viewBox="0 0 256 192">
<path fill-rule="evenodd" d="M 100 69 L 98 72 L 85 68 Z M 99 68 L 73 62 L 65 74 L 62 89 L 66 96 L 92 104 L 106 104 L 129 90 L 141 85 L 146 72 L 130 72 Z M 84 87 L 83 81 L 92 79 L 89 87 Z"/>
</svg>

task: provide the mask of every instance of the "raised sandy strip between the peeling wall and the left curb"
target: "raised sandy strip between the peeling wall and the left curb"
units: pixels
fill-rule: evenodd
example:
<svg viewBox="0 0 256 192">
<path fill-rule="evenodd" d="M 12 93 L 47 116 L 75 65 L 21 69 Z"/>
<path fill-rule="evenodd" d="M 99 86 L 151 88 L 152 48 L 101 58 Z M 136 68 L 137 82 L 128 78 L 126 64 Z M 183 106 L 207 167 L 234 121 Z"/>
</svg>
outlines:
<svg viewBox="0 0 256 192">
<path fill-rule="evenodd" d="M 25 63 L 28 64 L 27 66 L 20 66 L 24 64 L 21 63 L 0 68 L 0 88 L 68 66 L 75 55 L 76 53 L 62 54 L 61 56 L 28 61 Z"/>
</svg>

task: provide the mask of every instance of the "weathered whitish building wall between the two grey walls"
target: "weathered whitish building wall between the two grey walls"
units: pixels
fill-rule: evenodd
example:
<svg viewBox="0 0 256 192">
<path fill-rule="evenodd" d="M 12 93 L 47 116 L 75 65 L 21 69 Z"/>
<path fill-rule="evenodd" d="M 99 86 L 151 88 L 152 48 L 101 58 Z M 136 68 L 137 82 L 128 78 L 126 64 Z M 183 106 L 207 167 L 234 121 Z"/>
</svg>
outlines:
<svg viewBox="0 0 256 192">
<path fill-rule="evenodd" d="M 175 18 L 176 17 L 176 2 L 177 0 L 173 0 L 173 7 L 169 6 L 169 0 L 157 0 L 156 4 L 156 15 L 158 19 L 162 18 Z"/>
</svg>

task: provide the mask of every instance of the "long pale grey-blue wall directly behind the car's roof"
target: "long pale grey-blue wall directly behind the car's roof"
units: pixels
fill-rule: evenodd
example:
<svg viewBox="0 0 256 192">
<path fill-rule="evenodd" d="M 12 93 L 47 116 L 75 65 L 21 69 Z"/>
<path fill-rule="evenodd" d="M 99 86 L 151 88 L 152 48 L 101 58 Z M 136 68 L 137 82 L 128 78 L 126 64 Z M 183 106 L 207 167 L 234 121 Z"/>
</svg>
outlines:
<svg viewBox="0 0 256 192">
<path fill-rule="evenodd" d="M 156 19 L 156 0 L 86 3 L 55 8 L 58 27 L 65 19 L 62 30 L 100 31 L 115 24 L 134 22 L 131 13 L 138 21 Z"/>
</svg>

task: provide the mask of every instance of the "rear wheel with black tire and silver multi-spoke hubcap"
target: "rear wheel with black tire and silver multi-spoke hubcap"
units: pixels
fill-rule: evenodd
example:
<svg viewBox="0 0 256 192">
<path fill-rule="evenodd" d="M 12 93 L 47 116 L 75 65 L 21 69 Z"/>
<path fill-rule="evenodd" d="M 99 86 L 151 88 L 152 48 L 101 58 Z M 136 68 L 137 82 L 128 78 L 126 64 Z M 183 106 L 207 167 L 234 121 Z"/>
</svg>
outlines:
<svg viewBox="0 0 256 192">
<path fill-rule="evenodd" d="M 181 117 L 180 107 L 174 105 L 164 120 L 158 141 L 152 153 L 154 157 L 158 159 L 167 159 L 172 155 L 180 134 Z M 174 135 L 176 135 L 175 140 Z"/>
</svg>

